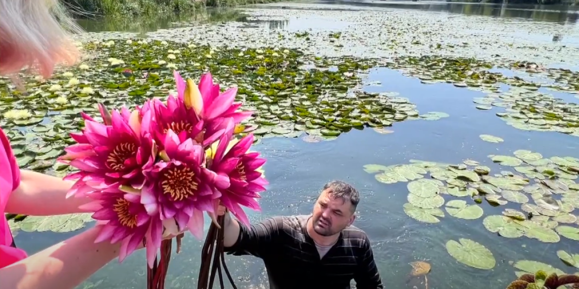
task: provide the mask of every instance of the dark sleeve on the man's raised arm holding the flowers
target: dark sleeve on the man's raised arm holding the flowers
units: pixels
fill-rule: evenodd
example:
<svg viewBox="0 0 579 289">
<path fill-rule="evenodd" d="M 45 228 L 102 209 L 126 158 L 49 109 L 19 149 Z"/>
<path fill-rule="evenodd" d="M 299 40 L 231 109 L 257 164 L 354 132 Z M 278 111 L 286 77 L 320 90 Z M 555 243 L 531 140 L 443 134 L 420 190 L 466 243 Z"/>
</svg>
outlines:
<svg viewBox="0 0 579 289">
<path fill-rule="evenodd" d="M 282 228 L 281 217 L 267 218 L 249 227 L 239 223 L 237 242 L 232 247 L 225 247 L 223 250 L 232 255 L 252 255 L 261 258 L 263 252 L 267 251 L 275 242 L 276 237 L 280 235 Z"/>
</svg>

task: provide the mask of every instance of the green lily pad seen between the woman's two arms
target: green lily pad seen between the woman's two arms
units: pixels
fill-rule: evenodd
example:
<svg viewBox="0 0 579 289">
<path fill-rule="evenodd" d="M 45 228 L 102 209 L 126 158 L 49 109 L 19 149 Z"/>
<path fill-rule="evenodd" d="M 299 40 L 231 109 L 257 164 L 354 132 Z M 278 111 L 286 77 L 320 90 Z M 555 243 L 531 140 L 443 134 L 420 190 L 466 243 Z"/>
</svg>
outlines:
<svg viewBox="0 0 579 289">
<path fill-rule="evenodd" d="M 25 232 L 72 232 L 85 227 L 93 221 L 92 214 L 66 214 L 58 216 L 38 217 L 28 216 L 19 222 L 19 227 Z"/>
</svg>

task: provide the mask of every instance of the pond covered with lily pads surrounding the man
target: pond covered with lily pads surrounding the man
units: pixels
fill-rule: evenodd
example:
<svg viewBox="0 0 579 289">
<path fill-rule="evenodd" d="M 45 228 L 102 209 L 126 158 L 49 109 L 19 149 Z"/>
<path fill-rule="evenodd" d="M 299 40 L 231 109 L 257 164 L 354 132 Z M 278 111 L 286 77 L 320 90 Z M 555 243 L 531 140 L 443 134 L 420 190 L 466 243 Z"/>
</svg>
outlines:
<svg viewBox="0 0 579 289">
<path fill-rule="evenodd" d="M 308 214 L 327 181 L 345 180 L 362 195 L 354 225 L 372 241 L 384 288 L 501 289 L 518 271 L 579 271 L 579 261 L 574 268 L 558 257 L 579 254 L 577 13 L 324 1 L 132 26 L 82 20 L 94 32 L 80 38 L 93 58 L 46 83 L 25 78 L 27 95 L 2 80 L 0 125 L 22 131 L 10 131 L 20 164 L 62 175 L 67 168 L 53 165 L 53 151 L 67 142 L 65 130 L 80 125 L 80 110 L 166 95 L 171 69 L 193 79 L 210 69 L 256 111 L 254 149 L 267 158 L 270 186 L 262 213 L 248 210 L 251 221 Z M 125 68 L 133 75 L 123 76 Z M 155 76 L 141 76 L 146 70 Z M 420 183 L 435 184 L 435 196 L 416 189 Z M 509 220 L 503 227 L 511 230 L 497 220 Z M 16 243 L 32 254 L 85 229 L 23 228 Z M 446 244 L 461 238 L 485 246 L 496 265 L 457 262 Z M 167 288 L 194 287 L 200 247 L 186 236 Z M 260 260 L 226 258 L 238 288 L 268 287 Z M 427 285 L 409 277 L 414 261 L 432 266 Z M 140 251 L 79 288 L 144 288 L 145 275 Z"/>
</svg>

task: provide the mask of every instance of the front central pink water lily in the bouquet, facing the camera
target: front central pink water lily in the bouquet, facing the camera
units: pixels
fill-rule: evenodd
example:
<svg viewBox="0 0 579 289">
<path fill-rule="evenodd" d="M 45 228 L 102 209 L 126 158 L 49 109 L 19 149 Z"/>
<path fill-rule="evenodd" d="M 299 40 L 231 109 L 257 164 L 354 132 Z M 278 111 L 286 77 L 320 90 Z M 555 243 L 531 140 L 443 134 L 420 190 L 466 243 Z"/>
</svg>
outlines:
<svg viewBox="0 0 579 289">
<path fill-rule="evenodd" d="M 145 169 L 146 183 L 141 191 L 141 203 L 151 215 L 162 220 L 174 219 L 178 231 L 188 228 L 197 238 L 203 235 L 202 212 L 214 212 L 213 200 L 221 193 L 211 184 L 228 183 L 203 167 L 203 147 L 193 139 L 181 141 L 169 129 L 160 152 L 161 161 Z"/>
</svg>

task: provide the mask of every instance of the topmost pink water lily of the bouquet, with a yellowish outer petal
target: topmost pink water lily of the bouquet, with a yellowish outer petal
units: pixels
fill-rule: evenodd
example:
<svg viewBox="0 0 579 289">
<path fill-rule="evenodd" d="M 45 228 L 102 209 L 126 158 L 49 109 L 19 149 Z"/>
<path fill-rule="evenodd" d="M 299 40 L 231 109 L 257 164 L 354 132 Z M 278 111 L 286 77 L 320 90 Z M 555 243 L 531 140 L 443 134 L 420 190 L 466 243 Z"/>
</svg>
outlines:
<svg viewBox="0 0 579 289">
<path fill-rule="evenodd" d="M 179 97 L 185 95 L 188 83 L 183 80 L 177 71 L 173 73 L 177 82 L 177 93 Z M 190 80 L 189 83 L 193 81 Z M 199 86 L 191 87 L 190 95 L 192 106 L 199 118 L 206 123 L 211 123 L 221 117 L 233 118 L 234 124 L 239 124 L 251 116 L 252 112 L 240 112 L 241 102 L 235 102 L 237 88 L 229 88 L 225 92 L 219 90 L 219 84 L 213 83 L 211 73 L 201 76 Z"/>
</svg>

